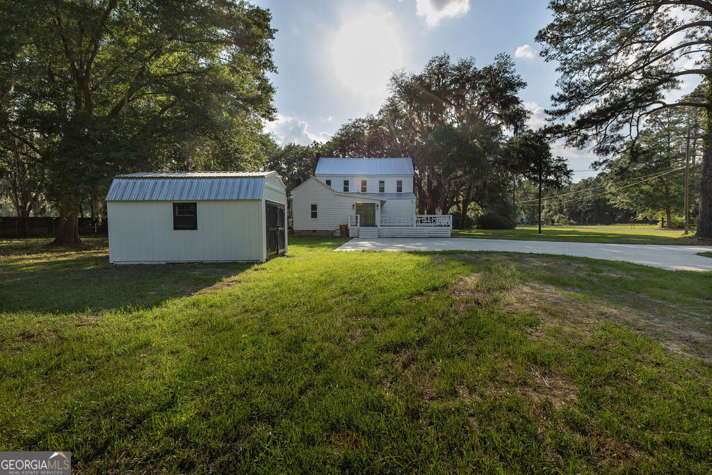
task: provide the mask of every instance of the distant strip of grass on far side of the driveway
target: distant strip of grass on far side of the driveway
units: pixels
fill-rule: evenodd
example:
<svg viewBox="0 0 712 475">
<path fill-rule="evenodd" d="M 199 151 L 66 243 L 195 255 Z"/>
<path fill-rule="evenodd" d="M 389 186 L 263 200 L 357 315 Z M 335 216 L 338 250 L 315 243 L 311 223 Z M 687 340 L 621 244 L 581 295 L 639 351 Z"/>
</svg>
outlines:
<svg viewBox="0 0 712 475">
<path fill-rule="evenodd" d="M 651 226 L 636 226 L 635 229 L 630 226 L 543 226 L 542 234 L 538 234 L 537 226 L 517 226 L 516 229 L 453 230 L 452 237 L 617 244 L 712 244 L 679 239 L 684 235 L 683 231 L 664 231 Z"/>
</svg>

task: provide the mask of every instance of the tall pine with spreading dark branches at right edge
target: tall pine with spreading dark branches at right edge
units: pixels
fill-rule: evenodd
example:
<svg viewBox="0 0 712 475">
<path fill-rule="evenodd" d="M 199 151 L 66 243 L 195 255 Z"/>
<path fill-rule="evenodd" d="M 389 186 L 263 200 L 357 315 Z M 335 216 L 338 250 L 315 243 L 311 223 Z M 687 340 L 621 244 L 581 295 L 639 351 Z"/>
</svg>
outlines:
<svg viewBox="0 0 712 475">
<path fill-rule="evenodd" d="M 559 130 L 569 145 L 617 155 L 634 147 L 654 111 L 703 113 L 697 236 L 712 237 L 712 1 L 553 0 L 549 8 L 554 19 L 537 40 L 560 65 L 549 112 L 565 123 Z M 675 100 L 683 78 L 705 80 L 703 93 Z"/>
</svg>

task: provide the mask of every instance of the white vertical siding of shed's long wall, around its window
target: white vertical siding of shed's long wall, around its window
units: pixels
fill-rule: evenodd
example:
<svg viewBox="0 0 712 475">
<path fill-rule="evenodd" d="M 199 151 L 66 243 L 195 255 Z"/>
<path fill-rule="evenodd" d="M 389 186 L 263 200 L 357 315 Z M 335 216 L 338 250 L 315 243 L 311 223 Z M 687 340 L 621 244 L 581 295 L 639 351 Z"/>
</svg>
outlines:
<svg viewBox="0 0 712 475">
<path fill-rule="evenodd" d="M 174 231 L 173 203 L 107 202 L 109 261 L 162 263 L 266 259 L 263 200 L 198 201 L 198 229 L 194 231 Z"/>
</svg>

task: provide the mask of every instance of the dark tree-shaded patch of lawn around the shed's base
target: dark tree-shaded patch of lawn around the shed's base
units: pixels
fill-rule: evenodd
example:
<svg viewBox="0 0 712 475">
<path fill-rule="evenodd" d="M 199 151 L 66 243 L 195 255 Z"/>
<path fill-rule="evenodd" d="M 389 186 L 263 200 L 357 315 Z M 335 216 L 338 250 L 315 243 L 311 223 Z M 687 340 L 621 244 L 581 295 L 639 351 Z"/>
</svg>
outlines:
<svg viewBox="0 0 712 475">
<path fill-rule="evenodd" d="M 8 312 L 69 313 L 99 312 L 126 306 L 150 308 L 169 298 L 213 286 L 254 265 L 112 266 L 105 239 L 93 240 L 78 249 L 32 246 L 33 243 L 28 241 L 3 244 L 0 246 L 0 311 Z"/>
</svg>

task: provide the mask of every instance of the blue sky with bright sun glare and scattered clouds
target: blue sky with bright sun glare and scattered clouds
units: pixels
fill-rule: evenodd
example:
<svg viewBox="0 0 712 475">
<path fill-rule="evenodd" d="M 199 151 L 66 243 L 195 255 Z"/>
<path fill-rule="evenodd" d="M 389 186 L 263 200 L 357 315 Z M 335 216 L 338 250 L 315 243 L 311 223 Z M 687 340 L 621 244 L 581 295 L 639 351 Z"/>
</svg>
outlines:
<svg viewBox="0 0 712 475">
<path fill-rule="evenodd" d="M 421 71 L 432 56 L 474 57 L 478 66 L 509 53 L 528 83 L 521 94 L 543 123 L 555 92 L 556 65 L 534 37 L 550 20 L 545 0 L 256 0 L 278 29 L 273 76 L 278 118 L 266 129 L 281 145 L 328 140 L 345 120 L 376 113 L 393 70 Z M 572 169 L 592 154 L 554 147 Z M 596 172 L 576 172 L 575 179 Z"/>
</svg>

